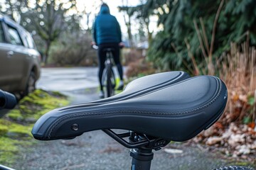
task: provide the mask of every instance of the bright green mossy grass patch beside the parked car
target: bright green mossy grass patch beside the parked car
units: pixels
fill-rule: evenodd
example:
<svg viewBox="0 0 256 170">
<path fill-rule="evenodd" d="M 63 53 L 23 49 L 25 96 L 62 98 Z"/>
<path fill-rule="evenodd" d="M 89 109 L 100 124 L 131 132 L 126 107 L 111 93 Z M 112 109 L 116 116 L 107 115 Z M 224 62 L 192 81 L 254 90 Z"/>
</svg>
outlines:
<svg viewBox="0 0 256 170">
<path fill-rule="evenodd" d="M 31 130 L 36 120 L 54 108 L 67 106 L 66 96 L 36 90 L 19 101 L 14 110 L 0 119 L 0 164 L 11 166 L 22 147 L 35 143 Z"/>
</svg>

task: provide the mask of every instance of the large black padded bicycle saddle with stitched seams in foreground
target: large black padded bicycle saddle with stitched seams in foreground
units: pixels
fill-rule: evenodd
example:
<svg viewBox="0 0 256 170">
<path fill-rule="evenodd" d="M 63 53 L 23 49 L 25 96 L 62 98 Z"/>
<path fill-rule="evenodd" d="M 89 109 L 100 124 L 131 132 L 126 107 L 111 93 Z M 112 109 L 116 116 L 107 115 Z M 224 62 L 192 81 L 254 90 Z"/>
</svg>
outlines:
<svg viewBox="0 0 256 170">
<path fill-rule="evenodd" d="M 143 79 L 147 84 L 146 77 Z M 199 76 L 155 86 L 147 91 L 142 88 L 144 93 L 137 92 L 125 100 L 55 109 L 36 122 L 32 134 L 38 140 L 57 140 L 92 130 L 124 129 L 185 141 L 215 123 L 227 102 L 225 84 L 217 77 Z M 122 93 L 129 96 L 129 89 L 137 89 L 136 84 L 128 85 Z M 77 126 L 75 130 L 73 125 Z"/>
</svg>

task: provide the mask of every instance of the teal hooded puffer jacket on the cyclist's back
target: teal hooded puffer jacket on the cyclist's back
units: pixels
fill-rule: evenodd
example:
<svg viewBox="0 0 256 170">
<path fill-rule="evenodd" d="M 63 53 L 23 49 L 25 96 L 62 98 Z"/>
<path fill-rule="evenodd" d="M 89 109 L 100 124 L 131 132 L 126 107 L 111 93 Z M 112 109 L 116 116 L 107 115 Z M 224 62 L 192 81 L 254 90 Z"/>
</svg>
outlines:
<svg viewBox="0 0 256 170">
<path fill-rule="evenodd" d="M 97 45 L 122 42 L 117 18 L 110 15 L 110 8 L 102 6 L 93 26 L 93 38 Z"/>
</svg>

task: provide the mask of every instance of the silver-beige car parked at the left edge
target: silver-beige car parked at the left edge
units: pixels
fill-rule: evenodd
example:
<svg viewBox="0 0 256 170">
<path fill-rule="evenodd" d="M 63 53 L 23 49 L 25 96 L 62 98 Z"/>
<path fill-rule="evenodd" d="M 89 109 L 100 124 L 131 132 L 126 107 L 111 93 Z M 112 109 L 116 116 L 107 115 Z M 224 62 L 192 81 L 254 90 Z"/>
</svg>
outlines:
<svg viewBox="0 0 256 170">
<path fill-rule="evenodd" d="M 40 77 L 41 55 L 24 28 L 0 14 L 0 89 L 26 95 Z"/>
</svg>

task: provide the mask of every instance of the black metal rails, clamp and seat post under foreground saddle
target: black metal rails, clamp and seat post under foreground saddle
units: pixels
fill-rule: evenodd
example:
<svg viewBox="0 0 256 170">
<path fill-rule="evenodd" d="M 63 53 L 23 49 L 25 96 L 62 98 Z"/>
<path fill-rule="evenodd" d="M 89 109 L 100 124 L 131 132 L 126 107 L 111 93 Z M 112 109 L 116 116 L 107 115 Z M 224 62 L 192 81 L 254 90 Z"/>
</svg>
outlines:
<svg viewBox="0 0 256 170">
<path fill-rule="evenodd" d="M 154 157 L 152 150 L 159 150 L 169 144 L 170 140 L 164 140 L 159 137 L 151 137 L 138 132 L 123 132 L 115 133 L 110 129 L 102 130 L 107 135 L 124 147 L 129 148 L 130 156 L 132 157 L 131 170 L 149 170 L 151 161 Z M 129 141 L 124 138 L 129 137 Z"/>
</svg>

